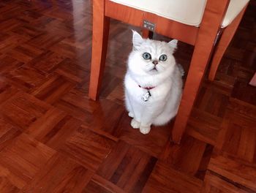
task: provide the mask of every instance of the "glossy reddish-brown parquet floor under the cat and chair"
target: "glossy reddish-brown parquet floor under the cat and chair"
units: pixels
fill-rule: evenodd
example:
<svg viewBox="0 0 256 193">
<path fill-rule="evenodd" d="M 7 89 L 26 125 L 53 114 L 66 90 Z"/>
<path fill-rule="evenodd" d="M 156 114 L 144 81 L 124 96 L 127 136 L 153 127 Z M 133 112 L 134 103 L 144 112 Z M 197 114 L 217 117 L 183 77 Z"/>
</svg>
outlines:
<svg viewBox="0 0 256 193">
<path fill-rule="evenodd" d="M 0 1 L 0 192 L 256 192 L 256 1 L 181 145 L 129 126 L 123 77 L 132 26 L 111 21 L 98 102 L 88 99 L 91 1 Z M 165 37 L 155 36 L 155 39 Z M 188 69 L 192 47 L 177 61 Z"/>
</svg>

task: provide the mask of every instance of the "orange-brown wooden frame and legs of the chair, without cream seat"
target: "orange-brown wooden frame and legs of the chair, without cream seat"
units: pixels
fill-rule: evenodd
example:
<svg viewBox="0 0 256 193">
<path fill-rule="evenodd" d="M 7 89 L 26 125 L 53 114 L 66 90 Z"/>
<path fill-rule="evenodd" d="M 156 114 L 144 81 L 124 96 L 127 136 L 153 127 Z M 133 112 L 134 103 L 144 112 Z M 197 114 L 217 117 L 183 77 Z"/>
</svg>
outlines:
<svg viewBox="0 0 256 193">
<path fill-rule="evenodd" d="M 128 0 L 127 0 L 128 1 Z M 190 0 L 187 0 L 190 1 Z M 121 20 L 133 26 L 143 26 L 143 20 L 155 23 L 154 32 L 166 37 L 178 39 L 189 45 L 194 45 L 192 61 L 189 67 L 187 80 L 184 86 L 184 93 L 181 99 L 181 105 L 178 109 L 176 121 L 173 127 L 172 140 L 180 143 L 181 136 L 187 126 L 189 114 L 192 110 L 200 82 L 203 78 L 206 66 L 213 53 L 214 45 L 218 37 L 219 44 L 215 48 L 212 59 L 209 79 L 214 80 L 219 61 L 221 60 L 227 45 L 230 43 L 238 24 L 246 9 L 241 7 L 241 12 L 227 26 L 222 29 L 222 20 L 225 18 L 227 7 L 232 0 L 208 0 L 203 12 L 203 18 L 200 26 L 191 26 L 180 23 L 176 20 L 164 18 L 154 13 L 138 10 L 124 4 L 118 4 L 110 0 L 93 1 L 93 36 L 92 36 L 92 58 L 91 58 L 91 79 L 89 86 L 89 97 L 96 100 L 99 95 L 99 88 L 102 81 L 102 75 L 105 68 L 105 57 L 108 45 L 108 31 L 110 18 Z M 233 0 L 235 1 L 235 0 Z M 240 0 L 241 1 L 241 0 Z M 181 10 L 182 11 L 182 10 Z M 219 34 L 222 33 L 222 36 Z M 144 36 L 148 31 L 144 30 Z"/>
</svg>

